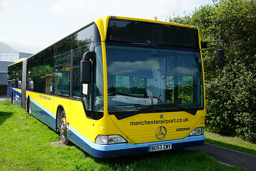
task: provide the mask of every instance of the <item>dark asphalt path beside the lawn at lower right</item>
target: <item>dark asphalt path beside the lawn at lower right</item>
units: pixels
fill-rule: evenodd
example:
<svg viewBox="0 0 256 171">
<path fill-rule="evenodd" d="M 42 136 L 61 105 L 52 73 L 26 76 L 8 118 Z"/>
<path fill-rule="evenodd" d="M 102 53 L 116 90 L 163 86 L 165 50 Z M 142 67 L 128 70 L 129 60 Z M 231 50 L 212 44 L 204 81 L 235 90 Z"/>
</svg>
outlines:
<svg viewBox="0 0 256 171">
<path fill-rule="evenodd" d="M 231 149 L 204 143 L 204 146 L 190 147 L 200 152 L 205 152 L 216 160 L 237 167 L 244 167 L 249 171 L 256 171 L 256 157 L 244 153 L 232 151 Z"/>
</svg>

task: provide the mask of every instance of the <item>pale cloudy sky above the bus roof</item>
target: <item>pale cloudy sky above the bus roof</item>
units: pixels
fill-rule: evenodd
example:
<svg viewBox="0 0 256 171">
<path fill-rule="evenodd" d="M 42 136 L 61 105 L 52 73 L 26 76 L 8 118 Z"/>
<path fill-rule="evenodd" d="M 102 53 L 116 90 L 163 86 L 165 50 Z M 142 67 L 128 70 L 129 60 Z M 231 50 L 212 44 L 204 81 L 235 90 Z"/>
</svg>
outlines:
<svg viewBox="0 0 256 171">
<path fill-rule="evenodd" d="M 106 15 L 166 21 L 192 14 L 212 0 L 0 0 L 0 42 L 37 53 L 97 17 Z"/>
</svg>

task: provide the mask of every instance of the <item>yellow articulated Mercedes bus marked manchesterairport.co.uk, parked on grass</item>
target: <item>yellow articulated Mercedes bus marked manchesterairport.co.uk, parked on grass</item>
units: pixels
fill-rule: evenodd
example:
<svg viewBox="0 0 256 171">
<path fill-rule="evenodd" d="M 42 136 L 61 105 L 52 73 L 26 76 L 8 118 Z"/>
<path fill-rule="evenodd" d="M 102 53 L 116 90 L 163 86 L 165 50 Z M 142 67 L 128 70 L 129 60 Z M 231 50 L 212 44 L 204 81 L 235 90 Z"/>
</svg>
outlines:
<svg viewBox="0 0 256 171">
<path fill-rule="evenodd" d="M 197 27 L 96 18 L 10 65 L 7 98 L 95 157 L 203 145 L 206 47 Z"/>
</svg>

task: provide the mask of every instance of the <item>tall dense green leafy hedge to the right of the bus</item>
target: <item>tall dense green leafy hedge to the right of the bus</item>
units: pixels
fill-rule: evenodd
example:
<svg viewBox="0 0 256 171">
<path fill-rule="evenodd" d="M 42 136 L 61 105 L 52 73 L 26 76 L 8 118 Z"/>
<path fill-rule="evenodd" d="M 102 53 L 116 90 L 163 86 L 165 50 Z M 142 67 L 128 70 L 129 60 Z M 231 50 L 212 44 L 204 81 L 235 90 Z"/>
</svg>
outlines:
<svg viewBox="0 0 256 171">
<path fill-rule="evenodd" d="M 224 40 L 222 70 L 216 67 L 216 48 L 203 50 L 206 129 L 256 142 L 256 2 L 213 2 L 192 15 L 168 19 L 199 27 L 202 41 Z"/>
</svg>

